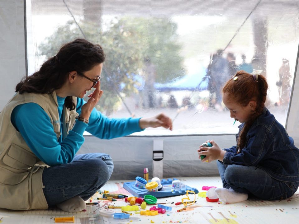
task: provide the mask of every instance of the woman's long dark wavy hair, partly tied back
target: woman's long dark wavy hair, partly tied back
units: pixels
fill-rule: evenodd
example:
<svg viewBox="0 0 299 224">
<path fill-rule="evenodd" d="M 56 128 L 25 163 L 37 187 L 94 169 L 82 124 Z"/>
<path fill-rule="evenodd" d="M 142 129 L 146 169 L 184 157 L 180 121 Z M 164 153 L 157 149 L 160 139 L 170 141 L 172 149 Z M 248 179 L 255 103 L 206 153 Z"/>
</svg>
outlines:
<svg viewBox="0 0 299 224">
<path fill-rule="evenodd" d="M 17 84 L 16 92 L 51 94 L 64 85 L 69 72 L 77 71 L 78 75 L 82 75 L 104 61 L 105 53 L 99 44 L 76 39 L 64 44 L 54 57 L 43 63 L 39 71 L 23 78 Z M 65 105 L 70 110 L 75 109 L 72 96 L 66 97 Z"/>
</svg>

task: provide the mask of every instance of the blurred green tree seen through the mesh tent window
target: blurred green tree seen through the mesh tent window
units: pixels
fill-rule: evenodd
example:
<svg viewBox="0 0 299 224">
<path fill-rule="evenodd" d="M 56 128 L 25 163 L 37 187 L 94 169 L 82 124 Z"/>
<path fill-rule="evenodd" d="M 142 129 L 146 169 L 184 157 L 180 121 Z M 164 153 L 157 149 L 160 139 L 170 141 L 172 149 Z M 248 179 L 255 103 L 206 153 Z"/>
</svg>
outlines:
<svg viewBox="0 0 299 224">
<path fill-rule="evenodd" d="M 135 22 L 134 22 L 135 21 Z M 80 27 L 79 27 L 80 26 Z M 56 28 L 39 45 L 39 54 L 46 58 L 54 56 L 62 44 L 76 38 L 85 38 L 102 45 L 106 60 L 101 76 L 104 91 L 97 109 L 109 116 L 121 103 L 121 95 L 137 92 L 134 76 L 143 68 L 144 58 L 149 56 L 157 67 L 158 82 L 166 82 L 183 74 L 183 58 L 179 56 L 181 45 L 177 44 L 177 25 L 164 18 L 125 17 L 111 20 L 106 31 L 95 22 L 68 21 Z"/>
</svg>

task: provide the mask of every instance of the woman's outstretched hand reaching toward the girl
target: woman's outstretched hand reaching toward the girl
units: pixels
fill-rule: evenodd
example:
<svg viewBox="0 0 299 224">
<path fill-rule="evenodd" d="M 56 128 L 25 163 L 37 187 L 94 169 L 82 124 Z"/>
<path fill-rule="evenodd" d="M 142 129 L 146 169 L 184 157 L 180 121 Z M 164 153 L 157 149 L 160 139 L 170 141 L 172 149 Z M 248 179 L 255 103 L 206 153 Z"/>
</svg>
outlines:
<svg viewBox="0 0 299 224">
<path fill-rule="evenodd" d="M 139 126 L 141 129 L 149 128 L 149 127 L 152 128 L 164 127 L 164 128 L 169 128 L 169 130 L 172 131 L 172 121 L 168 116 L 166 116 L 163 113 L 157 114 L 156 116 L 151 118 L 140 118 Z"/>
</svg>

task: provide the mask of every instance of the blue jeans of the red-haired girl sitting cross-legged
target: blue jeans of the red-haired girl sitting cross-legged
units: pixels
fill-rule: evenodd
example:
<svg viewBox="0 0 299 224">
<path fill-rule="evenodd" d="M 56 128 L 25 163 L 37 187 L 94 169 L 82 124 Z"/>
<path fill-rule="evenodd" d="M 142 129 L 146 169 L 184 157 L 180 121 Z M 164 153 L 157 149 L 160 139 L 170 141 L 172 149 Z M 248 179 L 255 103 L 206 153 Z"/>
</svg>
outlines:
<svg viewBox="0 0 299 224">
<path fill-rule="evenodd" d="M 256 166 L 229 165 L 227 168 L 217 161 L 224 188 L 254 195 L 263 200 L 282 200 L 291 197 L 298 189 L 299 182 L 283 182 L 272 178 Z"/>
</svg>

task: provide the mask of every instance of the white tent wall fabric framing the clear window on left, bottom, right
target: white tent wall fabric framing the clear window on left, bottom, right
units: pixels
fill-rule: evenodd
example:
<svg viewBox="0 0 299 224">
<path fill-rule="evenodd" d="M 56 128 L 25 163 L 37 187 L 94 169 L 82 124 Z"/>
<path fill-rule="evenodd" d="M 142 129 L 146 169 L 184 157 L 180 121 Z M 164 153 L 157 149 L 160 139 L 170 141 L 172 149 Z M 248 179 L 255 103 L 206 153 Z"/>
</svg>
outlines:
<svg viewBox="0 0 299 224">
<path fill-rule="evenodd" d="M 26 74 L 25 22 L 23 0 L 0 0 L 0 110 L 13 96 L 15 85 Z M 298 58 L 297 58 L 298 67 Z M 296 67 L 296 68 L 297 68 Z M 299 147 L 299 74 L 295 70 L 293 92 L 287 119 L 287 131 Z M 218 175 L 216 162 L 203 164 L 198 159 L 197 149 L 208 139 L 217 139 L 222 147 L 235 143 L 234 135 L 200 135 L 168 137 L 128 136 L 101 140 L 86 136 L 78 153 L 104 152 L 110 154 L 115 168 L 112 179 L 133 179 L 142 175 L 144 167 L 152 169 L 154 140 L 163 139 L 163 177 Z M 150 172 L 150 177 L 152 173 Z"/>
</svg>

